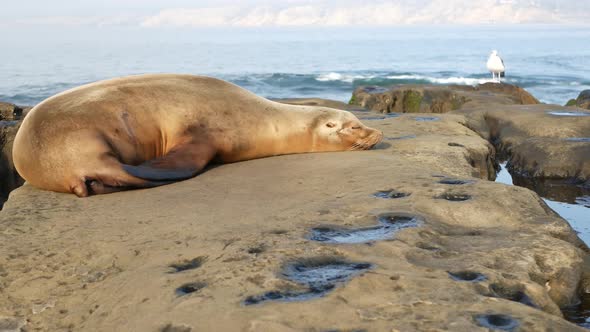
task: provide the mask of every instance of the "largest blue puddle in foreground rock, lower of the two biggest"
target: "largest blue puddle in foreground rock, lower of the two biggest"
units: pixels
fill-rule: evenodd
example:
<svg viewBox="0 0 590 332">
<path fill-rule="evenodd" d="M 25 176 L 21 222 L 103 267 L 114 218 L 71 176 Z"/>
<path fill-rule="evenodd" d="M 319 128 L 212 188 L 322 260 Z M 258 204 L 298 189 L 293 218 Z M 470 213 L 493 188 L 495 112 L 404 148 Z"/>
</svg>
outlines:
<svg viewBox="0 0 590 332">
<path fill-rule="evenodd" d="M 354 263 L 333 258 L 313 258 L 286 265 L 281 276 L 306 287 L 302 291 L 270 291 L 249 296 L 245 305 L 266 301 L 306 301 L 322 297 L 337 285 L 342 284 L 373 266 L 370 263 Z"/>
</svg>

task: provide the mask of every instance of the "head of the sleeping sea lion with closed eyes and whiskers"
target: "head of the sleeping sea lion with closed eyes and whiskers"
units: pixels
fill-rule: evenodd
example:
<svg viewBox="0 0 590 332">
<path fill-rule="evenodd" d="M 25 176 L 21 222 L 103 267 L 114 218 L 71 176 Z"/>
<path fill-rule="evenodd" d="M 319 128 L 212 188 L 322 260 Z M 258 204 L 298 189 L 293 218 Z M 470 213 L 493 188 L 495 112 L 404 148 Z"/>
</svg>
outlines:
<svg viewBox="0 0 590 332">
<path fill-rule="evenodd" d="M 315 151 L 368 150 L 383 133 L 365 126 L 354 114 L 323 108 L 314 121 Z"/>
</svg>

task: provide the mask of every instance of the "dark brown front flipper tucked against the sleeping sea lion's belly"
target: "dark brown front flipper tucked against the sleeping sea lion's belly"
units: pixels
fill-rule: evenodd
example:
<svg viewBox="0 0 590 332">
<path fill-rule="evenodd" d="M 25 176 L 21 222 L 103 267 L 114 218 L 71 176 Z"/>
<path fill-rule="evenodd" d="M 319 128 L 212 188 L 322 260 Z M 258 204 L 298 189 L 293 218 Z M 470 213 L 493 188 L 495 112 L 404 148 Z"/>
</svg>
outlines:
<svg viewBox="0 0 590 332">
<path fill-rule="evenodd" d="M 137 178 L 150 181 L 179 181 L 197 175 L 213 159 L 215 149 L 208 143 L 186 143 L 166 155 L 123 170 Z"/>
</svg>

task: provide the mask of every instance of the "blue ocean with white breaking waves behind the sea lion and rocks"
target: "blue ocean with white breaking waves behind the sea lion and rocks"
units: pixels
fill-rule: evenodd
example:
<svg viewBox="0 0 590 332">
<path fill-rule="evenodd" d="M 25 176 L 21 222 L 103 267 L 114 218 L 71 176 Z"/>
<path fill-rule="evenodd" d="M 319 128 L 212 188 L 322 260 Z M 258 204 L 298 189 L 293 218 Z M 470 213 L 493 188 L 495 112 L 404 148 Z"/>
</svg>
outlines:
<svg viewBox="0 0 590 332">
<path fill-rule="evenodd" d="M 505 82 L 565 104 L 590 89 L 590 28 L 47 28 L 0 34 L 0 101 L 34 105 L 71 87 L 123 75 L 187 73 L 268 98 L 348 101 L 361 85 L 487 82 L 498 50 Z"/>
</svg>

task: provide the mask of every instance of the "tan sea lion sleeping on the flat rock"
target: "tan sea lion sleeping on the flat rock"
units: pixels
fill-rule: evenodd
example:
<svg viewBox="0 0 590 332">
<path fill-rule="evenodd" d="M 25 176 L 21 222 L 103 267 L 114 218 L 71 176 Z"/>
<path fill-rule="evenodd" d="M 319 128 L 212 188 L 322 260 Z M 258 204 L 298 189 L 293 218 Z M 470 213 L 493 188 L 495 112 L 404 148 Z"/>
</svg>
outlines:
<svg viewBox="0 0 590 332">
<path fill-rule="evenodd" d="M 138 75 L 83 85 L 35 106 L 13 147 L 31 185 L 79 197 L 155 187 L 230 163 L 370 149 L 352 113 L 280 104 L 219 79 Z"/>
</svg>

